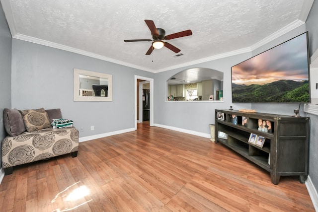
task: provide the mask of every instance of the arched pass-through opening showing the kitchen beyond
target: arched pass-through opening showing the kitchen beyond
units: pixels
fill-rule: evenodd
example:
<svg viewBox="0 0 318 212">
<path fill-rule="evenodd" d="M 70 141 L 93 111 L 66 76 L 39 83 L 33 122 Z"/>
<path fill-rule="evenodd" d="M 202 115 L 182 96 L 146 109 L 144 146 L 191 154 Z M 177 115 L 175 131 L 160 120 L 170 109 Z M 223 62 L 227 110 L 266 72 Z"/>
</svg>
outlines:
<svg viewBox="0 0 318 212">
<path fill-rule="evenodd" d="M 207 68 L 183 70 L 169 77 L 167 86 L 168 101 L 223 100 L 221 71 Z"/>
</svg>

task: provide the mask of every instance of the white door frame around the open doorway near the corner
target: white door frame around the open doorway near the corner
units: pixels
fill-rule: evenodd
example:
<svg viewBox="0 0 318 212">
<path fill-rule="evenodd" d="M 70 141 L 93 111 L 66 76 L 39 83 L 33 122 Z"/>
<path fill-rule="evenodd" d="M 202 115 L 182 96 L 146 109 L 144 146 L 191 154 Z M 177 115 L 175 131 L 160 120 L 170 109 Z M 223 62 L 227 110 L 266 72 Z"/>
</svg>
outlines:
<svg viewBox="0 0 318 212">
<path fill-rule="evenodd" d="M 148 77 L 144 77 L 144 76 L 138 76 L 135 75 L 135 130 L 137 130 L 137 79 L 142 79 L 142 80 L 146 80 L 149 82 L 150 84 L 150 117 L 149 117 L 149 125 L 150 126 L 154 126 L 154 79 L 153 78 L 148 78 Z M 144 84 L 144 83 L 148 83 L 148 82 L 141 82 L 140 84 Z M 139 87 L 139 91 L 138 92 L 142 92 L 142 86 Z M 140 120 L 140 117 L 142 117 L 142 98 L 143 95 L 139 96 L 139 111 L 141 110 L 141 112 L 139 112 L 139 122 L 142 122 L 142 119 Z M 140 103 L 141 102 L 141 103 Z"/>
</svg>

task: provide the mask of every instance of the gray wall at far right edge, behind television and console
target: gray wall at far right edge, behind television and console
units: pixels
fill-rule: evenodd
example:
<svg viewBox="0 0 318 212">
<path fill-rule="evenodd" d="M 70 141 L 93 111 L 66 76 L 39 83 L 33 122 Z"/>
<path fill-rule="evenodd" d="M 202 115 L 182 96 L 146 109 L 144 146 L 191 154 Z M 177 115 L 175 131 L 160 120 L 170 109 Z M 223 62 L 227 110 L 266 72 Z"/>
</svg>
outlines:
<svg viewBox="0 0 318 212">
<path fill-rule="evenodd" d="M 313 7 L 306 21 L 306 30 L 309 33 L 309 51 L 312 56 L 318 49 L 318 2 L 314 1 Z M 318 60 L 318 58 L 316 58 Z M 317 79 L 316 79 L 317 80 Z M 318 190 L 318 117 L 312 114 L 306 114 L 310 120 L 310 145 L 309 145 L 309 176 Z"/>
</svg>

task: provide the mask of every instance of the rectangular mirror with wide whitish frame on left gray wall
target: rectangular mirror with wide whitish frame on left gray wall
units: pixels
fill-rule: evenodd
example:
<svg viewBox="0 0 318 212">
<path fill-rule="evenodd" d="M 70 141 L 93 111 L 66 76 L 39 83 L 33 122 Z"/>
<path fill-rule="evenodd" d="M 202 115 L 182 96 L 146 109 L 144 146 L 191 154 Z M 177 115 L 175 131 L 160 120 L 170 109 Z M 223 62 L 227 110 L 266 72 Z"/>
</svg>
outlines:
<svg viewBox="0 0 318 212">
<path fill-rule="evenodd" d="M 73 70 L 74 101 L 112 101 L 113 76 L 94 71 Z"/>
</svg>

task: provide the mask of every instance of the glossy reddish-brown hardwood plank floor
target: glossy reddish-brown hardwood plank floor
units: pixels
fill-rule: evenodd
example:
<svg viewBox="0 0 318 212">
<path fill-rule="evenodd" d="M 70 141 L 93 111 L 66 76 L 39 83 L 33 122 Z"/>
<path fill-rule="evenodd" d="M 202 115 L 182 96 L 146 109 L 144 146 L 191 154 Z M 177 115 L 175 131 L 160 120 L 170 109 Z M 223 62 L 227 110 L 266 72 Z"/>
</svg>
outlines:
<svg viewBox="0 0 318 212">
<path fill-rule="evenodd" d="M 79 154 L 13 168 L 0 211 L 314 212 L 305 184 L 270 175 L 221 143 L 149 124 L 79 143 Z"/>
</svg>

